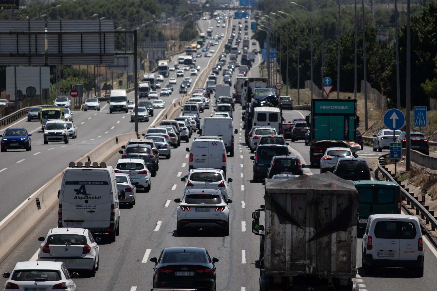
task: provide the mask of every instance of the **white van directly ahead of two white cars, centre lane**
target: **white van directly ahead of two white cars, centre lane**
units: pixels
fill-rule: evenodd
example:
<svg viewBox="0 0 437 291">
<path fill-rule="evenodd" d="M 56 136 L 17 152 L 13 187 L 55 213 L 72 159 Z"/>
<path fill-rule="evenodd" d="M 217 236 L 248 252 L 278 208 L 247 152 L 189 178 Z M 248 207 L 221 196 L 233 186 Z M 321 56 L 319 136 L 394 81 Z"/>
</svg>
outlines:
<svg viewBox="0 0 437 291">
<path fill-rule="evenodd" d="M 188 170 L 199 168 L 214 168 L 223 170 L 226 174 L 225 143 L 217 139 L 198 139 L 191 142 L 188 159 Z"/>
</svg>

